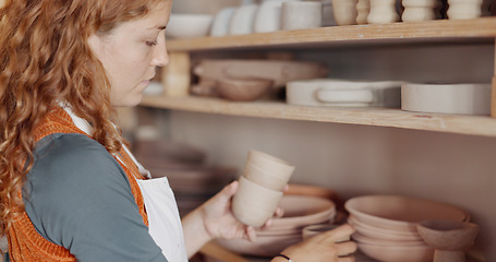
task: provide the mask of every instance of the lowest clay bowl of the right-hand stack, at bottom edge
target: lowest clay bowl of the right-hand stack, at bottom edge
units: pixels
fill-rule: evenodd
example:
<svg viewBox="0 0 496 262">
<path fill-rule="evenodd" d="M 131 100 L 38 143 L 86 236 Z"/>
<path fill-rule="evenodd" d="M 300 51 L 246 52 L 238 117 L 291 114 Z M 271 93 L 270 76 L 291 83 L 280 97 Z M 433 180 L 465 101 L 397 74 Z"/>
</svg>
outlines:
<svg viewBox="0 0 496 262">
<path fill-rule="evenodd" d="M 359 250 L 384 262 L 432 262 L 434 249 L 427 246 L 384 246 L 358 242 Z"/>
</svg>

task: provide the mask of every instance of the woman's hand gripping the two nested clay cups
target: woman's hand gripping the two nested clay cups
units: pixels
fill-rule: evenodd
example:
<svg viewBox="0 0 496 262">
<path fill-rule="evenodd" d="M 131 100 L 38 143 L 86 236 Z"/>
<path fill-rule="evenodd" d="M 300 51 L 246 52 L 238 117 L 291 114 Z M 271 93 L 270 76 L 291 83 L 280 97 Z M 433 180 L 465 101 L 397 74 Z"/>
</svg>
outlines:
<svg viewBox="0 0 496 262">
<path fill-rule="evenodd" d="M 231 200 L 238 187 L 238 181 L 230 183 L 202 206 L 205 229 L 211 238 L 243 238 L 250 241 L 256 239 L 255 228 L 239 222 L 231 211 Z M 275 216 L 282 216 L 282 210 L 277 209 Z M 270 224 L 271 219 L 268 219 L 264 227 Z"/>
</svg>

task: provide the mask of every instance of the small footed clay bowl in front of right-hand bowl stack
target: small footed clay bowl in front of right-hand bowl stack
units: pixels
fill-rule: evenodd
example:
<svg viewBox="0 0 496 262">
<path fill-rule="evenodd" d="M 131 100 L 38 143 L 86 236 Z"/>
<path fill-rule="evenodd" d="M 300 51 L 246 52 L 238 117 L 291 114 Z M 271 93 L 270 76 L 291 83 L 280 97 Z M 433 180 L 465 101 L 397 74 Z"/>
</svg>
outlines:
<svg viewBox="0 0 496 262">
<path fill-rule="evenodd" d="M 464 262 L 465 251 L 474 243 L 479 226 L 468 222 L 424 221 L 419 234 L 435 248 L 434 262 Z"/>
</svg>

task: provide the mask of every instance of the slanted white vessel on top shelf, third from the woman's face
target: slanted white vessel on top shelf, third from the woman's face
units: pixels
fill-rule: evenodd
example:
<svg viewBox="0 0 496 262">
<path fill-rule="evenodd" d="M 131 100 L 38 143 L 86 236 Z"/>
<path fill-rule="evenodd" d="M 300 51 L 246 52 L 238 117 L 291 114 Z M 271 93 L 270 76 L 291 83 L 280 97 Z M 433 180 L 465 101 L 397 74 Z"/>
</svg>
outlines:
<svg viewBox="0 0 496 262">
<path fill-rule="evenodd" d="M 238 7 L 231 17 L 229 35 L 247 35 L 253 33 L 253 24 L 258 4 Z"/>
</svg>

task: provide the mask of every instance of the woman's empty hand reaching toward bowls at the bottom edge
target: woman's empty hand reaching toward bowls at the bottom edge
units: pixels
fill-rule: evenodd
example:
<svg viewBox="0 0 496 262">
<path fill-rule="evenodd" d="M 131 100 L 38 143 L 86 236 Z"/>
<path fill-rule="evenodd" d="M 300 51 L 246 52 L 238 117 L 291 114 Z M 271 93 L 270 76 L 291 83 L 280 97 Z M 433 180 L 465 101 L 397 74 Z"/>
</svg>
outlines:
<svg viewBox="0 0 496 262">
<path fill-rule="evenodd" d="M 349 238 L 353 231 L 352 226 L 342 225 L 290 246 L 281 253 L 288 255 L 293 262 L 353 262 L 354 257 L 350 254 L 356 251 L 356 243 L 353 241 L 337 242 L 340 239 Z M 273 262 L 276 261 L 285 261 L 285 259 L 273 260 Z"/>
</svg>

